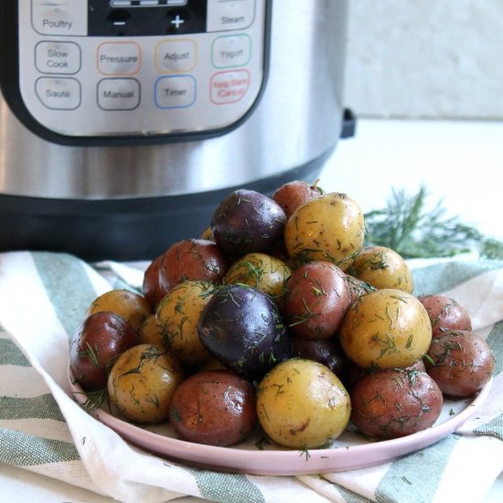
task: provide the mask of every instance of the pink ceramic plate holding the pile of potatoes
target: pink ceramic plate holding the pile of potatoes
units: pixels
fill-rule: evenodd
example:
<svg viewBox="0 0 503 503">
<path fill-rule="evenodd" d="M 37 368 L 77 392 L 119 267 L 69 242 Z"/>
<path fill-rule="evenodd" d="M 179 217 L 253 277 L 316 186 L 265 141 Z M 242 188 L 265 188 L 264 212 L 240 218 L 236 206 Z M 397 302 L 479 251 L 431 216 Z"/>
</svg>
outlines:
<svg viewBox="0 0 503 503">
<path fill-rule="evenodd" d="M 87 397 L 69 373 L 70 389 L 76 401 Z M 139 427 L 126 423 L 103 409 L 91 414 L 125 440 L 146 451 L 194 466 L 251 475 L 294 476 L 326 472 L 344 472 L 380 465 L 408 455 L 443 439 L 465 423 L 487 399 L 492 380 L 470 399 L 444 399 L 443 411 L 431 428 L 422 432 L 381 442 L 372 442 L 348 428 L 325 449 L 298 451 L 263 442 L 257 432 L 251 439 L 234 447 L 193 444 L 177 438 L 169 424 Z"/>
</svg>

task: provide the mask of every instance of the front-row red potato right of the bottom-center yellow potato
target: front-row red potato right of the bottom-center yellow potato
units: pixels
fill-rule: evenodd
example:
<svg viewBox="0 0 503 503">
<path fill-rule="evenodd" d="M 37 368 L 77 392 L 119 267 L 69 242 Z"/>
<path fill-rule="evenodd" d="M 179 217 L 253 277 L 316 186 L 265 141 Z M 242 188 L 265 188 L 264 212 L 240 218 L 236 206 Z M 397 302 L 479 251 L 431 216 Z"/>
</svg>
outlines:
<svg viewBox="0 0 503 503">
<path fill-rule="evenodd" d="M 444 404 L 442 391 L 426 372 L 407 369 L 370 373 L 356 383 L 350 398 L 352 423 L 377 440 L 429 428 Z"/>
</svg>

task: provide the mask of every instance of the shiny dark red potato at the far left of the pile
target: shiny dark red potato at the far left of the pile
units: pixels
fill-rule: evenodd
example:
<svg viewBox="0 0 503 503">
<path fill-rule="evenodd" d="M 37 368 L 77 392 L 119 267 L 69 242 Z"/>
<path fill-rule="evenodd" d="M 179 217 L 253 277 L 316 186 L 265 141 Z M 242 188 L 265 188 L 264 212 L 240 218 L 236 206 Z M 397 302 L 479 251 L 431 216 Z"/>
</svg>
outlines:
<svg viewBox="0 0 503 503">
<path fill-rule="evenodd" d="M 74 379 L 87 391 L 104 389 L 112 362 L 137 342 L 137 333 L 123 316 L 108 312 L 87 316 L 70 344 Z"/>
</svg>

